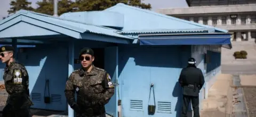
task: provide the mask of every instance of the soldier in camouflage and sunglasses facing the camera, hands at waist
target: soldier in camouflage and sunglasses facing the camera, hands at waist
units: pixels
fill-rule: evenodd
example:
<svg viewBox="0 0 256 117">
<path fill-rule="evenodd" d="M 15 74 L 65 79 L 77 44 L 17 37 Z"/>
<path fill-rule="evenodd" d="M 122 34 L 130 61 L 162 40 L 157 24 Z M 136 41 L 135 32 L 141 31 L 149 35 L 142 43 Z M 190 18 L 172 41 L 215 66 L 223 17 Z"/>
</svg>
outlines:
<svg viewBox="0 0 256 117">
<path fill-rule="evenodd" d="M 82 49 L 79 58 L 82 68 L 71 73 L 66 83 L 65 95 L 68 104 L 77 117 L 105 117 L 105 104 L 114 95 L 114 85 L 107 71 L 93 66 L 92 49 Z"/>
</svg>

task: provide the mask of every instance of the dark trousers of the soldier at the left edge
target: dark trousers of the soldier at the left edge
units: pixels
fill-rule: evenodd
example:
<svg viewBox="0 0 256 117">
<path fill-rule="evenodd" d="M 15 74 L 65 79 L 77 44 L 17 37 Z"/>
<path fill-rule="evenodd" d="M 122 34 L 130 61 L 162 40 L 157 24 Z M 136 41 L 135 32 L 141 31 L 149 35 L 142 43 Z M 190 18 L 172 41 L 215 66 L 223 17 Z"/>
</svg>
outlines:
<svg viewBox="0 0 256 117">
<path fill-rule="evenodd" d="M 7 104 L 3 109 L 3 117 L 29 117 L 29 109 L 14 109 Z"/>
</svg>

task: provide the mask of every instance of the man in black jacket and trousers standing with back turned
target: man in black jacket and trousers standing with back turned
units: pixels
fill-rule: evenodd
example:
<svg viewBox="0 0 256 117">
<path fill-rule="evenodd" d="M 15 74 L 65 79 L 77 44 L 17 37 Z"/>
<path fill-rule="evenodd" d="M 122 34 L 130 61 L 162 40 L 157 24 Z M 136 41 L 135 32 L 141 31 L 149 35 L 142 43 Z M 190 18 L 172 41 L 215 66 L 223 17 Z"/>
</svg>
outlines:
<svg viewBox="0 0 256 117">
<path fill-rule="evenodd" d="M 187 116 L 188 106 L 192 102 L 194 117 L 199 117 L 199 91 L 204 85 L 204 75 L 201 69 L 196 68 L 196 60 L 188 59 L 188 66 L 180 73 L 179 83 L 183 87 L 182 117 Z"/>
</svg>

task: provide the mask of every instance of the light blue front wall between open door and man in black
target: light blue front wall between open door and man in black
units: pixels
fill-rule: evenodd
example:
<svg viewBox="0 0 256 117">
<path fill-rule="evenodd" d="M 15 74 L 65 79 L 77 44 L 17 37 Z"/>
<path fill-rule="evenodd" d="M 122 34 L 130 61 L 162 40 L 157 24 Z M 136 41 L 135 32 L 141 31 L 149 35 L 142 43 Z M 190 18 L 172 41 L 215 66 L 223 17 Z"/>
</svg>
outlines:
<svg viewBox="0 0 256 117">
<path fill-rule="evenodd" d="M 120 76 L 123 116 L 176 116 L 181 101 L 181 88 L 177 85 L 181 70 L 178 47 L 123 48 L 121 51 L 120 63 L 125 66 Z M 151 84 L 154 92 L 153 88 L 150 91 Z M 156 105 L 154 115 L 148 115 L 148 105 Z"/>
</svg>

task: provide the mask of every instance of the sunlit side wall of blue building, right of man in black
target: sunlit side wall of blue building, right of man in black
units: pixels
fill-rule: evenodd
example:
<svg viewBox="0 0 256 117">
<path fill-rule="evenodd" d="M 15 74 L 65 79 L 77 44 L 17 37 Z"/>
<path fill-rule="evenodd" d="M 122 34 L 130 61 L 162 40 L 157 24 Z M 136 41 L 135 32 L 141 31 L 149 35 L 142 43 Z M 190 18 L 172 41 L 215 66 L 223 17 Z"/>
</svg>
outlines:
<svg viewBox="0 0 256 117">
<path fill-rule="evenodd" d="M 215 76 L 220 73 L 220 48 L 220 46 L 191 46 L 191 57 L 196 59 L 196 66 L 202 70 L 205 78 L 204 87 L 199 94 L 200 109 L 203 99 L 207 98 L 208 91 L 215 82 Z M 205 55 L 209 56 L 210 62 L 205 62 Z"/>
</svg>

